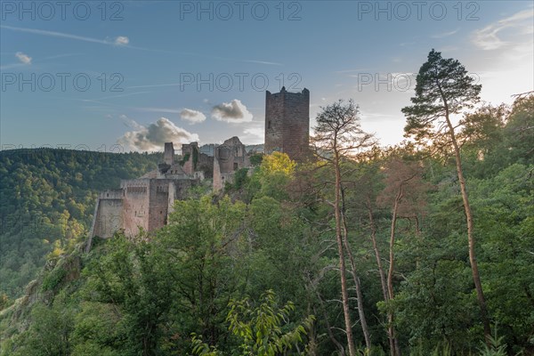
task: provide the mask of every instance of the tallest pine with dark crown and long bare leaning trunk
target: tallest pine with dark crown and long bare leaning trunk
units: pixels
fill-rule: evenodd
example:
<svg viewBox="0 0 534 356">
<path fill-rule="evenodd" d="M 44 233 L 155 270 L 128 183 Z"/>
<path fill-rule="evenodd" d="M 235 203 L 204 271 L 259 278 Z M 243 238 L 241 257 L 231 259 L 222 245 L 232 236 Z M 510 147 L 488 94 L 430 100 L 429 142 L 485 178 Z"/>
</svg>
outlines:
<svg viewBox="0 0 534 356">
<path fill-rule="evenodd" d="M 447 137 L 454 149 L 467 223 L 469 262 L 481 309 L 484 336 L 488 340 L 491 335 L 490 320 L 474 249 L 473 213 L 465 186 L 455 126 L 451 121 L 452 115 L 459 114 L 463 109 L 473 108 L 473 104 L 480 101 L 481 85 L 473 82 L 473 77 L 467 75 L 465 67 L 459 61 L 444 59 L 441 53 L 432 50 L 417 74 L 416 96 L 411 98 L 413 105 L 403 108 L 402 112 L 407 117 L 407 125 L 404 128 L 407 135 L 415 136 L 417 141 Z"/>
</svg>

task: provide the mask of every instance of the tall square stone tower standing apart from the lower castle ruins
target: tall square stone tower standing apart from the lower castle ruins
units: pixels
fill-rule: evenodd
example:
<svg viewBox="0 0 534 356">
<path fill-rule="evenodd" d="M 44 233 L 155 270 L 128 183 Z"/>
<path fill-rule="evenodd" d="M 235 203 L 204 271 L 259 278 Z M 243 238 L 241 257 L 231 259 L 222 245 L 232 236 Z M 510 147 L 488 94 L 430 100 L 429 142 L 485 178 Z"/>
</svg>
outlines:
<svg viewBox="0 0 534 356">
<path fill-rule="evenodd" d="M 267 91 L 265 98 L 265 153 L 274 150 L 301 160 L 310 141 L 310 91 L 280 93 Z"/>
</svg>

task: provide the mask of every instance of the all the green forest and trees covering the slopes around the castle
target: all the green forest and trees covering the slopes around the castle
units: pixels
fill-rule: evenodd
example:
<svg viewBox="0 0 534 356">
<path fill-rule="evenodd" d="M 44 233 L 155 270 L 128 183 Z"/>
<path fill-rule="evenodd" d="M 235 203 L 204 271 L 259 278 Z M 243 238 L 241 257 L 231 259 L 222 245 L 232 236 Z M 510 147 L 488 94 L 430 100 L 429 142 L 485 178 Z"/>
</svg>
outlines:
<svg viewBox="0 0 534 356">
<path fill-rule="evenodd" d="M 415 140 L 380 147 L 336 101 L 313 159 L 256 155 L 88 253 L 96 192 L 160 156 L 4 152 L 0 355 L 534 354 L 534 95 L 474 105 L 441 60 L 404 110 Z"/>
</svg>

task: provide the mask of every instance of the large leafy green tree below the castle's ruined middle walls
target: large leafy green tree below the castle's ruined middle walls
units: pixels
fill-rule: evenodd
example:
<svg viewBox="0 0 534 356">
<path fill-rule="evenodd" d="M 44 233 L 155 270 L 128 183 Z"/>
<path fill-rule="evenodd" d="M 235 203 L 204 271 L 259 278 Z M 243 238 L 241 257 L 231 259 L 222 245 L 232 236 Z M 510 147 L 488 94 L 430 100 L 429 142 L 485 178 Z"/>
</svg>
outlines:
<svg viewBox="0 0 534 356">
<path fill-rule="evenodd" d="M 248 274 L 245 209 L 228 197 L 216 204 L 208 196 L 174 202 L 169 224 L 153 244 L 174 284 L 177 334 L 196 332 L 209 344 L 227 334 L 228 302 Z"/>
</svg>

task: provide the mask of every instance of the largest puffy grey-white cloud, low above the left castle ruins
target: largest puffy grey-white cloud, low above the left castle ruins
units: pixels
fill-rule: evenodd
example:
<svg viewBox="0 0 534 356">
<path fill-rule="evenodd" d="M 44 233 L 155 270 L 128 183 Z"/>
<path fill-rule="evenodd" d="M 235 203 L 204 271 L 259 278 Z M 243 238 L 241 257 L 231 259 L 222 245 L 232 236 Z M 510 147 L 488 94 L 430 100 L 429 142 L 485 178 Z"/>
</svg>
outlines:
<svg viewBox="0 0 534 356">
<path fill-rule="evenodd" d="M 124 119 L 122 116 L 121 118 Z M 134 126 L 131 122 L 128 124 Z M 198 134 L 191 134 L 182 127 L 174 125 L 166 117 L 160 117 L 158 121 L 148 126 L 137 123 L 135 125 L 137 127 L 134 131 L 125 133 L 117 140 L 119 144 L 125 146 L 126 150 L 153 152 L 163 150 L 165 142 L 174 142 L 174 144 L 198 142 Z"/>
</svg>

